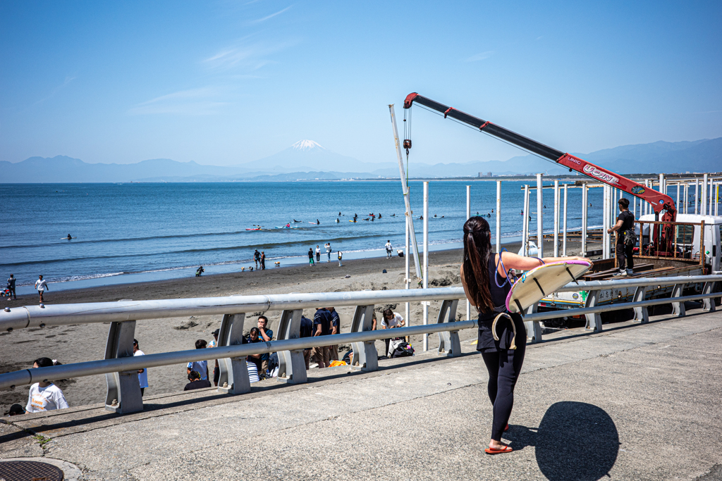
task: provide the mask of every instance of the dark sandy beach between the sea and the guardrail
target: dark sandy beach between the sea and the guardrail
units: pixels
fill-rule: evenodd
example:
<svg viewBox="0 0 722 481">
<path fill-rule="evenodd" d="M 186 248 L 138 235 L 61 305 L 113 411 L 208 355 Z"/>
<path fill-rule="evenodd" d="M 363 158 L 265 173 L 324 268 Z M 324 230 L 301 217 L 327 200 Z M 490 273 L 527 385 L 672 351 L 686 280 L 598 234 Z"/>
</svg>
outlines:
<svg viewBox="0 0 722 481">
<path fill-rule="evenodd" d="M 507 246 L 511 252 L 519 249 L 518 245 Z M 571 252 L 576 252 L 572 244 Z M 459 266 L 461 250 L 443 250 L 430 252 L 429 283 L 432 286 L 461 286 Z M 382 271 L 386 269 L 386 273 Z M 413 260 L 412 260 L 413 276 Z M 347 277 L 349 275 L 350 277 Z M 419 286 L 412 286 L 417 288 Z M 362 291 L 365 289 L 399 289 L 404 288 L 404 258 L 376 257 L 362 260 L 344 261 L 339 268 L 334 259 L 316 267 L 294 265 L 284 268 L 267 268 L 253 272 L 238 272 L 219 275 L 204 275 L 196 278 L 174 279 L 152 283 L 135 283 L 117 286 L 78 289 L 74 291 L 50 291 L 45 295 L 46 304 L 69 304 L 84 302 L 107 302 L 121 299 L 179 299 L 206 296 L 230 296 L 233 294 L 284 294 L 290 292 L 334 292 Z M 0 306 L 21 306 L 35 304 L 36 296 L 22 296 L 17 301 L 0 301 Z M 438 314 L 438 302 L 430 305 L 430 319 L 435 320 Z M 404 315 L 404 304 L 399 306 L 378 305 L 377 311 L 391 307 Z M 338 309 L 342 322 L 342 332 L 348 332 L 353 307 Z M 411 305 L 410 325 L 422 323 L 422 306 Z M 277 330 L 281 312 L 271 311 L 269 325 Z M 313 312 L 304 312 L 313 317 Z M 472 309 L 472 316 L 475 312 Z M 460 302 L 457 318 L 466 317 L 466 307 Z M 150 319 L 136 324 L 135 337 L 144 353 L 160 353 L 173 350 L 192 349 L 197 339 L 210 341 L 212 332 L 220 326 L 221 316 L 207 317 L 175 317 L 168 319 Z M 248 316 L 245 330 L 256 325 L 256 317 Z M 461 331 L 462 339 L 475 337 L 476 332 Z M 108 324 L 69 325 L 48 327 L 45 329 L 16 330 L 12 333 L 0 333 L 0 372 L 17 371 L 32 366 L 35 358 L 49 357 L 61 363 L 74 363 L 102 359 L 105 356 L 105 343 L 108 336 Z M 275 338 L 275 337 L 274 337 Z M 417 350 L 422 348 L 422 337 L 412 338 L 412 345 Z M 383 341 L 377 341 L 379 354 L 385 350 Z M 429 336 L 429 348 L 438 347 L 438 336 Z M 348 346 L 339 346 L 339 353 L 344 353 Z M 313 376 L 313 369 L 309 372 Z M 149 388 L 146 395 L 181 391 L 185 384 L 186 366 L 164 366 L 149 369 Z M 69 381 L 59 381 L 70 405 L 87 405 L 103 402 L 105 399 L 105 377 L 92 376 Z M 6 411 L 15 402 L 23 406 L 27 403 L 27 387 L 18 387 L 12 391 L 0 393 L 0 410 Z"/>
</svg>

